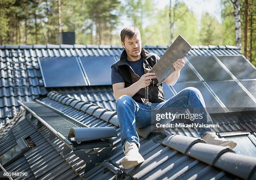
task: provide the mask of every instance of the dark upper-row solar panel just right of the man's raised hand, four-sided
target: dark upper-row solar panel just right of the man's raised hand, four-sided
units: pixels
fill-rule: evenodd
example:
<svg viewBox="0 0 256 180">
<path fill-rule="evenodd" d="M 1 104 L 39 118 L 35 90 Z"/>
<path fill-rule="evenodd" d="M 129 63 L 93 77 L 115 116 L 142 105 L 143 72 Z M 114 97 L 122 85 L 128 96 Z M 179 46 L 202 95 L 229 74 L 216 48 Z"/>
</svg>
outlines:
<svg viewBox="0 0 256 180">
<path fill-rule="evenodd" d="M 205 81 L 233 79 L 212 56 L 187 56 Z"/>
</svg>

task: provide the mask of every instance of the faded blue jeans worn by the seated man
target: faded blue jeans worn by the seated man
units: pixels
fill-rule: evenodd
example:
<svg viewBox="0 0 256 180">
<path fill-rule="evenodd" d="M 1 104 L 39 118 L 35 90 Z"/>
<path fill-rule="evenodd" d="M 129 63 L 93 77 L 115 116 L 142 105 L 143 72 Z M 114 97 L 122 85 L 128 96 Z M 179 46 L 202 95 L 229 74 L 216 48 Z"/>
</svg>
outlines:
<svg viewBox="0 0 256 180">
<path fill-rule="evenodd" d="M 151 125 L 151 111 L 156 111 L 166 107 L 179 107 L 185 112 L 189 107 L 195 108 L 193 112 L 200 114 L 203 111 L 203 117 L 200 123 L 212 124 L 212 119 L 205 109 L 205 102 L 200 91 L 194 87 L 187 87 L 172 96 L 170 99 L 160 102 L 152 103 L 151 106 L 138 103 L 134 101 L 131 96 L 123 95 L 116 101 L 116 109 L 118 114 L 118 123 L 121 129 L 121 146 L 124 150 L 126 141 L 134 142 L 140 147 L 138 133 L 136 127 L 146 127 Z M 180 113 L 183 113 L 180 112 Z M 204 136 L 207 132 L 212 132 L 211 128 L 197 128 L 198 135 Z"/>
</svg>

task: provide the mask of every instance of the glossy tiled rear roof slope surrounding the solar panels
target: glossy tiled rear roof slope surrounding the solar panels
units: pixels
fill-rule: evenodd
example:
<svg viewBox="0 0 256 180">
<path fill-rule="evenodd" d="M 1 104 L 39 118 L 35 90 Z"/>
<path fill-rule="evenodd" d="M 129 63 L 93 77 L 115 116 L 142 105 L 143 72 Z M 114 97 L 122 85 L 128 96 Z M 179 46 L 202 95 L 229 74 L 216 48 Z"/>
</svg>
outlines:
<svg viewBox="0 0 256 180">
<path fill-rule="evenodd" d="M 161 56 L 168 46 L 144 46 Z M 31 101 L 47 94 L 38 66 L 40 57 L 115 56 L 120 57 L 122 46 L 107 45 L 5 45 L 0 46 L 0 122 L 10 120 L 19 111 L 17 100 Z M 192 46 L 187 56 L 236 55 L 235 46 Z M 17 63 L 18 61 L 22 63 Z M 12 63 L 16 62 L 11 66 Z M 4 69 L 2 69 L 4 68 Z M 109 89 L 107 89 L 109 92 Z M 107 95 L 106 95 L 107 96 Z M 100 95 L 97 96 L 100 98 Z M 88 97 L 80 97 L 81 99 Z M 110 97 L 111 98 L 111 97 Z M 90 98 L 89 98 L 90 99 Z M 111 101 L 92 102 L 115 109 Z"/>
</svg>

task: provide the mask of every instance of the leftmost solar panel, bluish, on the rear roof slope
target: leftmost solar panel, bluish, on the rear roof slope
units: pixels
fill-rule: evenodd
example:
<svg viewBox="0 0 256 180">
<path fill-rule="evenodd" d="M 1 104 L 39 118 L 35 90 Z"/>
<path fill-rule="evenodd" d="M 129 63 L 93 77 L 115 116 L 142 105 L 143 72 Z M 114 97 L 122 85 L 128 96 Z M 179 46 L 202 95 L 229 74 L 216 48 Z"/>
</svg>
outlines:
<svg viewBox="0 0 256 180">
<path fill-rule="evenodd" d="M 87 85 L 75 57 L 39 58 L 39 65 L 46 87 Z"/>
</svg>

